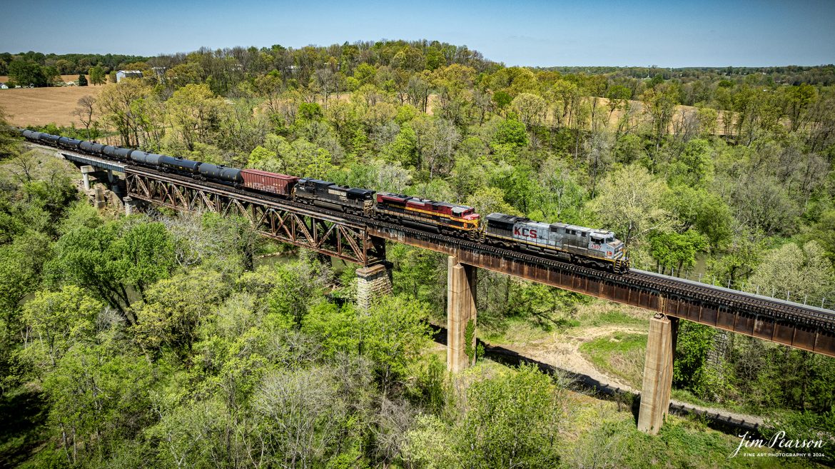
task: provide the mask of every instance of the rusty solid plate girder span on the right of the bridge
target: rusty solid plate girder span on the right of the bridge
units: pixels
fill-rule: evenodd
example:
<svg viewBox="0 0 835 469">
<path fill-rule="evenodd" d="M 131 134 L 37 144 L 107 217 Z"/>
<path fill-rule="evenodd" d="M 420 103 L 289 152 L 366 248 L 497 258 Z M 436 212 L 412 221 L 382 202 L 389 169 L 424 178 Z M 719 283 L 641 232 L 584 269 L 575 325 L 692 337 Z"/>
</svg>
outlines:
<svg viewBox="0 0 835 469">
<path fill-rule="evenodd" d="M 672 282 L 667 282 L 670 285 L 662 287 L 647 282 L 643 275 L 614 275 L 555 261 L 534 260 L 530 255 L 473 249 L 465 241 L 438 242 L 432 236 L 420 235 L 409 229 L 370 227 L 369 230 L 373 236 L 454 255 L 462 264 L 835 356 L 835 324 L 806 314 L 801 308 L 792 310 L 782 302 L 772 301 L 774 305 L 769 305 L 767 300 L 758 300 L 764 306 L 757 306 L 726 299 L 720 295 L 724 292 L 718 289 L 714 295 L 696 294 L 686 290 L 684 282 L 676 283 L 676 279 L 671 279 Z M 677 288 L 678 284 L 681 285 Z M 736 293 L 739 297 L 746 296 L 742 292 Z"/>
</svg>

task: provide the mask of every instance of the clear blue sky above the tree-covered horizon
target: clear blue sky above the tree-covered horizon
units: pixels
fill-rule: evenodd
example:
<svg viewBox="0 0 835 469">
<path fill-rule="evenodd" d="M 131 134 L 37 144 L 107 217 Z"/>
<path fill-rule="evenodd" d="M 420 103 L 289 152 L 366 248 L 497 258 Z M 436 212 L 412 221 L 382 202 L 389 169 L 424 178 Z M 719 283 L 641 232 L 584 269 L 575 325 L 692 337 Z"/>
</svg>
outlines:
<svg viewBox="0 0 835 469">
<path fill-rule="evenodd" d="M 32 0 L 0 11 L 0 52 L 12 53 L 156 55 L 428 38 L 508 65 L 835 63 L 835 0 Z"/>
</svg>

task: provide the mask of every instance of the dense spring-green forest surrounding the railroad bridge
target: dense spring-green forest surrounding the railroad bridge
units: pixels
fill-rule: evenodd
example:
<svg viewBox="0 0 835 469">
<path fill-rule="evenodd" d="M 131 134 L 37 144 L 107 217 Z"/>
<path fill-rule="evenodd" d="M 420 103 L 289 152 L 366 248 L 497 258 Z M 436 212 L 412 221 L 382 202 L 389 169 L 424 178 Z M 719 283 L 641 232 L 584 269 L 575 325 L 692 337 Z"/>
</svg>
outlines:
<svg viewBox="0 0 835 469">
<path fill-rule="evenodd" d="M 49 131 L 605 227 L 642 269 L 835 301 L 832 66 L 507 68 L 426 41 L 114 60 L 145 77 L 79 103 L 83 126 Z M 351 298 L 350 269 L 303 252 L 254 267 L 286 247 L 241 220 L 97 214 L 58 163 L 10 134 L 0 144 L 4 411 L 33 412 L 0 448 L 15 461 L 769 463 L 726 460 L 735 440 L 698 421 L 640 435 L 620 405 L 528 368 L 446 376 L 428 345 L 445 310 L 438 255 L 389 246 L 395 294 L 357 311 L 327 300 Z M 559 329 L 590 302 L 488 272 L 478 289 L 480 333 Z M 685 323 L 674 379 L 797 437 L 835 427 L 826 357 Z"/>
</svg>

